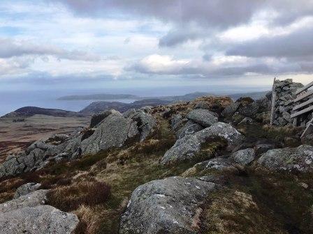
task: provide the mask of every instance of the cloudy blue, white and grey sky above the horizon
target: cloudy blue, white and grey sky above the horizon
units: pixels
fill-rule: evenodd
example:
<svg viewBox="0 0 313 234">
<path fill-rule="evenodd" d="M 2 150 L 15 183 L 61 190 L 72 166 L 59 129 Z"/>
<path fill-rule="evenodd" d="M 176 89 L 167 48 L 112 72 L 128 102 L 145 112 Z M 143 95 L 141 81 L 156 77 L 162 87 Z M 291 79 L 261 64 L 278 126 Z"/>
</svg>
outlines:
<svg viewBox="0 0 313 234">
<path fill-rule="evenodd" d="M 313 0 L 1 0 L 0 91 L 307 84 Z"/>
</svg>

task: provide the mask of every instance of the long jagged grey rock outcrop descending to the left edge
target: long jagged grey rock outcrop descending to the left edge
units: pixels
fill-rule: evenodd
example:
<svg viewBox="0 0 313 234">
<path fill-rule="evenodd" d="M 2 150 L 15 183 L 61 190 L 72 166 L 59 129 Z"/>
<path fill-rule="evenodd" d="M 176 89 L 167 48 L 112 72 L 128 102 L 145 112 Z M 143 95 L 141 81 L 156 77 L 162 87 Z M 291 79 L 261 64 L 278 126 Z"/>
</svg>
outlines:
<svg viewBox="0 0 313 234">
<path fill-rule="evenodd" d="M 142 110 L 123 116 L 118 111 L 105 111 L 94 116 L 92 128 L 80 128 L 70 136 L 53 136 L 36 141 L 24 152 L 9 155 L 0 165 L 0 178 L 42 169 L 50 162 L 77 159 L 108 148 L 119 148 L 131 139 L 144 141 L 157 125 L 157 120 Z"/>
</svg>

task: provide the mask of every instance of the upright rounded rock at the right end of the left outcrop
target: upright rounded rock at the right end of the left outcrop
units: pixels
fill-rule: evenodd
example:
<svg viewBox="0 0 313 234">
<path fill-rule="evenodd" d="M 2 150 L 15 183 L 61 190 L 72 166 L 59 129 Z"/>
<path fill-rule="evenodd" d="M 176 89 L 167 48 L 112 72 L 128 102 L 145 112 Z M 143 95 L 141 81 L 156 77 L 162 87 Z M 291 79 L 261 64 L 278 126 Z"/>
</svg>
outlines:
<svg viewBox="0 0 313 234">
<path fill-rule="evenodd" d="M 157 120 L 150 114 L 138 113 L 132 118 L 138 123 L 138 130 L 140 132 L 140 142 L 145 141 L 147 137 L 153 132 L 157 125 Z"/>
</svg>

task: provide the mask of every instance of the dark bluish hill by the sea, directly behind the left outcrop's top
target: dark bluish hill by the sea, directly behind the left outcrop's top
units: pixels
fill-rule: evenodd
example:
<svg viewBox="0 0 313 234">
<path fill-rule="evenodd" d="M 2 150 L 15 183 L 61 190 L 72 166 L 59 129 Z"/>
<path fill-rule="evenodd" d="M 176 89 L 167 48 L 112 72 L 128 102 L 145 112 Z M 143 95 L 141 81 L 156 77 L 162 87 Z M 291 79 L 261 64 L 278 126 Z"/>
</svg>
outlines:
<svg viewBox="0 0 313 234">
<path fill-rule="evenodd" d="M 104 111 L 105 109 L 115 109 L 120 112 L 127 111 L 128 109 L 139 109 L 140 107 L 145 106 L 158 106 L 160 104 L 168 104 L 169 101 L 159 100 L 159 99 L 147 99 L 139 100 L 132 103 L 123 103 L 123 102 L 92 102 L 87 107 L 82 109 L 80 113 L 82 114 L 94 114 L 96 112 Z"/>
</svg>

